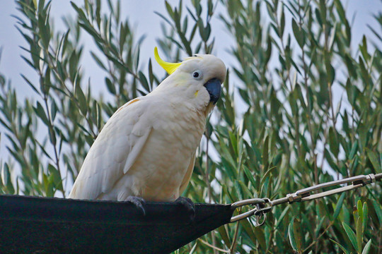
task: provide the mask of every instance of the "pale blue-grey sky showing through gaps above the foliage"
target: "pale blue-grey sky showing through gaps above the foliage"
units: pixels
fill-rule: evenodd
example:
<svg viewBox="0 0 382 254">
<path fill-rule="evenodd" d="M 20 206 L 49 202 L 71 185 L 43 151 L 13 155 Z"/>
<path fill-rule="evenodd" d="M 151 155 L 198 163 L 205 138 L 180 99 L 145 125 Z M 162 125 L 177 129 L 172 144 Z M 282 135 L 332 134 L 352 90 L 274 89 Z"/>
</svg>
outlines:
<svg viewBox="0 0 382 254">
<path fill-rule="evenodd" d="M 170 4 L 178 4 L 178 1 L 169 1 Z M 184 4 L 190 4 L 190 1 L 184 1 Z M 351 24 L 353 44 L 357 46 L 361 40 L 361 36 L 371 34 L 367 24 L 375 26 L 376 21 L 372 18 L 372 13 L 376 14 L 382 11 L 381 0 L 349 0 L 342 1 L 344 3 L 347 17 L 349 20 L 354 18 L 354 23 Z M 75 0 L 77 6 L 82 6 L 83 1 Z M 104 5 L 106 3 L 104 2 Z M 161 37 L 161 18 L 158 17 L 154 11 L 159 13 L 166 13 L 164 1 L 151 1 L 151 0 L 127 0 L 121 1 L 122 20 L 124 17 L 128 17 L 131 24 L 134 24 L 137 38 L 140 35 L 146 35 L 146 40 L 141 44 L 141 64 L 146 66 L 149 58 L 153 58 L 154 47 L 156 47 L 156 38 Z M 217 13 L 224 12 L 224 8 L 219 2 L 219 6 L 216 9 Z M 216 14 L 217 14 L 216 13 Z M 16 87 L 18 95 L 30 96 L 33 95 L 33 90 L 25 84 L 20 73 L 31 80 L 37 81 L 37 75 L 28 66 L 20 55 L 24 54 L 23 50 L 19 46 L 25 46 L 25 40 L 20 35 L 20 32 L 16 30 L 16 18 L 11 15 L 18 16 L 19 13 L 16 10 L 15 1 L 1 0 L 0 1 L 0 47 L 3 52 L 0 60 L 0 72 L 6 75 L 6 78 L 11 79 L 13 86 Z M 62 22 L 62 16 L 74 16 L 75 12 L 71 7 L 70 1 L 53 0 L 51 18 L 54 19 L 54 25 L 59 30 L 66 30 L 64 23 Z M 89 49 L 95 49 L 91 37 L 89 37 L 85 31 L 82 32 L 83 44 L 85 50 L 83 51 L 83 57 L 81 65 L 85 71 L 85 78 L 90 77 L 91 80 L 104 80 L 104 73 L 99 71 L 100 69 L 90 56 Z M 216 37 L 214 54 L 219 56 L 227 66 L 232 66 L 233 57 L 228 54 L 228 49 L 234 44 L 232 38 L 226 32 L 223 23 L 219 20 L 218 15 L 215 15 L 212 19 L 212 36 Z M 158 66 L 154 65 L 158 68 Z M 158 68 L 159 70 L 159 68 Z M 97 90 L 96 82 L 93 82 L 93 90 Z M 105 87 L 102 83 L 100 87 Z"/>
</svg>

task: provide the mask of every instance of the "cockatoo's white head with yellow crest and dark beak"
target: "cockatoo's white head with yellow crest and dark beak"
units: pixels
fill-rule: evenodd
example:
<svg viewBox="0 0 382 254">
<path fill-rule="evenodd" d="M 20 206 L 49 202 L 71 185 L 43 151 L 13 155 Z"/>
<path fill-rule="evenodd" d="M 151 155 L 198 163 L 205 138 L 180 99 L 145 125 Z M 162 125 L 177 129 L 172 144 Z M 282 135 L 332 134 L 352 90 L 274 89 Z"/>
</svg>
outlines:
<svg viewBox="0 0 382 254">
<path fill-rule="evenodd" d="M 157 48 L 154 54 L 156 61 L 170 74 L 158 90 L 176 90 L 181 99 L 194 103 L 197 108 L 212 109 L 220 97 L 221 83 L 226 79 L 223 61 L 211 54 L 196 54 L 181 63 L 168 63 L 159 57 Z"/>
</svg>

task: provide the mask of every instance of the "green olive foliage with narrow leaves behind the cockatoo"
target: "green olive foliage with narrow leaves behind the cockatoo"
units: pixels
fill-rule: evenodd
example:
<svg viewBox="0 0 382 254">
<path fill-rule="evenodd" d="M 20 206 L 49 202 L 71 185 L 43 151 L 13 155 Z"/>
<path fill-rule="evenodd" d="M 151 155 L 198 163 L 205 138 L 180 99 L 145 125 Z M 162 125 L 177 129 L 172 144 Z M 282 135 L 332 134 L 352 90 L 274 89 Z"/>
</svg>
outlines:
<svg viewBox="0 0 382 254">
<path fill-rule="evenodd" d="M 231 203 L 287 193 L 359 174 L 381 173 L 382 13 L 379 28 L 352 48 L 351 23 L 339 0 L 167 1 L 157 44 L 170 61 L 218 54 L 231 36 L 223 95 L 207 122 L 194 174 L 183 195 L 194 202 Z M 21 73 L 33 97 L 21 100 L 0 76 L 0 123 L 8 158 L 0 193 L 65 196 L 105 121 L 122 104 L 163 79 L 142 64 L 137 37 L 122 20 L 120 1 L 71 3 L 66 32 L 51 25 L 51 2 L 18 0 L 21 56 L 37 82 Z M 221 5 L 223 13 L 216 12 Z M 142 21 L 143 22 L 143 21 Z M 104 80 L 83 78 L 81 35 Z M 218 40 L 219 39 L 219 40 Z M 147 62 L 147 61 L 146 61 Z M 44 135 L 36 135 L 37 132 Z M 311 202 L 273 207 L 264 225 L 227 224 L 176 253 L 381 253 L 381 183 Z"/>
</svg>

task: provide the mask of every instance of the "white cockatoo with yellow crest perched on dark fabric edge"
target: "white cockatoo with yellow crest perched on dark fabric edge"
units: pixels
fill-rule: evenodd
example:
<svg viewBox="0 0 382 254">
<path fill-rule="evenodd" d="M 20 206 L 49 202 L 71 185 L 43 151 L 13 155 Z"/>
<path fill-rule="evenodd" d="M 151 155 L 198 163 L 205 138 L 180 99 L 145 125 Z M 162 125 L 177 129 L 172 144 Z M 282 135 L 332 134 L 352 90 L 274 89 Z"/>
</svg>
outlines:
<svg viewBox="0 0 382 254">
<path fill-rule="evenodd" d="M 185 190 L 208 114 L 221 94 L 226 66 L 197 54 L 168 63 L 170 74 L 146 96 L 117 109 L 100 131 L 69 198 L 173 202 Z"/>
</svg>

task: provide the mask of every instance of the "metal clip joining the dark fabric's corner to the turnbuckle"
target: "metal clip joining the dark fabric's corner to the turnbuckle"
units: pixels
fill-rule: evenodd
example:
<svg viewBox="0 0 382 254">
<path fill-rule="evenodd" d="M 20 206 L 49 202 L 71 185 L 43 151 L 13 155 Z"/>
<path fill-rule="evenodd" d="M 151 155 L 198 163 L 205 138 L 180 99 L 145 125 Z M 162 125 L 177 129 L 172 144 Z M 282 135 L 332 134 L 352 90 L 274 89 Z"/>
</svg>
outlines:
<svg viewBox="0 0 382 254">
<path fill-rule="evenodd" d="M 269 205 L 265 206 L 266 204 Z M 260 226 L 264 224 L 266 219 L 266 216 L 264 216 L 264 219 L 262 220 L 262 222 L 260 222 L 261 217 L 272 209 L 272 203 L 269 198 L 251 198 L 248 200 L 241 200 L 231 204 L 231 207 L 234 207 L 236 209 L 238 207 L 243 207 L 244 205 L 255 205 L 255 208 L 249 210 L 248 212 L 244 212 L 242 214 L 238 214 L 232 217 L 231 222 L 237 222 L 238 220 L 251 217 L 255 214 L 257 222 L 256 226 Z"/>
</svg>

